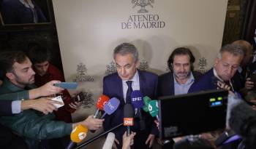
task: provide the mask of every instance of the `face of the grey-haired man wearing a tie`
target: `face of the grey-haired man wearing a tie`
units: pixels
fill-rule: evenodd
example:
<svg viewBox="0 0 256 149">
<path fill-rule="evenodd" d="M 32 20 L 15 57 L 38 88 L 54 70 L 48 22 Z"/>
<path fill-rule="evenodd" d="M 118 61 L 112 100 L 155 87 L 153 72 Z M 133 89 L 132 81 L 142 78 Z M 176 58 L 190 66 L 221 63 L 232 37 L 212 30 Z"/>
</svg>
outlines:
<svg viewBox="0 0 256 149">
<path fill-rule="evenodd" d="M 136 68 L 138 68 L 139 63 L 138 61 L 135 62 L 132 54 L 116 54 L 115 61 L 116 71 L 122 80 L 129 80 L 135 76 Z"/>
</svg>

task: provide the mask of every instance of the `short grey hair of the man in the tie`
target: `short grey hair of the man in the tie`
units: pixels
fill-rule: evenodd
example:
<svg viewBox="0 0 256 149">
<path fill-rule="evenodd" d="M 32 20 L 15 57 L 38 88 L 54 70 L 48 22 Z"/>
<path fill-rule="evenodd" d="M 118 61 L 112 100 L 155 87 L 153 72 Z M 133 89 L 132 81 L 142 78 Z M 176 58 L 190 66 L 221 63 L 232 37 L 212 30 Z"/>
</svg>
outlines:
<svg viewBox="0 0 256 149">
<path fill-rule="evenodd" d="M 119 54 L 119 55 L 132 54 L 133 60 L 135 60 L 135 62 L 137 62 L 139 60 L 138 50 L 135 47 L 135 45 L 133 45 L 133 44 L 123 43 L 123 44 L 118 45 L 118 47 L 116 47 L 113 52 L 114 60 L 116 60 L 117 54 Z"/>
</svg>

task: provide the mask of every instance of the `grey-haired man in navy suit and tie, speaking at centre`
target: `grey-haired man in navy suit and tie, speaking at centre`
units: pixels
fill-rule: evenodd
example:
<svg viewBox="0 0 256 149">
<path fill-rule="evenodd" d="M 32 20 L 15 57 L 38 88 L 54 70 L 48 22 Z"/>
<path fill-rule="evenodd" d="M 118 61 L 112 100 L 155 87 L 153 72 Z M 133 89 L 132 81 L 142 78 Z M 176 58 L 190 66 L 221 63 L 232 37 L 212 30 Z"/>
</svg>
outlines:
<svg viewBox="0 0 256 149">
<path fill-rule="evenodd" d="M 108 97 L 116 97 L 120 100 L 120 105 L 115 113 L 105 117 L 103 122 L 104 129 L 110 129 L 117 124 L 123 122 L 124 105 L 130 102 L 127 90 L 132 87 L 132 90 L 140 90 L 144 96 L 151 98 L 155 97 L 157 89 L 157 75 L 146 71 L 138 71 L 139 60 L 138 50 L 129 43 L 120 44 L 114 49 L 113 58 L 116 61 L 117 73 L 105 76 L 103 79 L 103 94 Z M 131 84 L 129 84 L 131 83 Z M 135 121 L 132 126 L 132 132 L 136 132 L 135 143 L 132 148 L 151 148 L 154 142 L 154 137 L 158 134 L 157 127 L 153 123 L 153 118 L 149 113 L 141 111 L 142 117 L 145 119 L 146 128 L 142 130 L 138 121 L 138 113 L 135 110 Z M 116 140 L 122 146 L 122 136 L 125 132 L 124 126 L 115 131 Z"/>
</svg>

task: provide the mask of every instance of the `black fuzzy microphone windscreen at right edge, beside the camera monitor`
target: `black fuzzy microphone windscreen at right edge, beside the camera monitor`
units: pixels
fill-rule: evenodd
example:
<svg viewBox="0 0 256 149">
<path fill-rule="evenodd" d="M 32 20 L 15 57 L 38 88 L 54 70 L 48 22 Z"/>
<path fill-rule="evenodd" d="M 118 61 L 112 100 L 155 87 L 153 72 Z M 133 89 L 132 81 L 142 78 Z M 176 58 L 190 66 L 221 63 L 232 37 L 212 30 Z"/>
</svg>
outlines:
<svg viewBox="0 0 256 149">
<path fill-rule="evenodd" d="M 246 102 L 240 102 L 231 110 L 229 124 L 236 133 L 244 135 L 252 118 L 256 118 L 256 111 Z"/>
</svg>

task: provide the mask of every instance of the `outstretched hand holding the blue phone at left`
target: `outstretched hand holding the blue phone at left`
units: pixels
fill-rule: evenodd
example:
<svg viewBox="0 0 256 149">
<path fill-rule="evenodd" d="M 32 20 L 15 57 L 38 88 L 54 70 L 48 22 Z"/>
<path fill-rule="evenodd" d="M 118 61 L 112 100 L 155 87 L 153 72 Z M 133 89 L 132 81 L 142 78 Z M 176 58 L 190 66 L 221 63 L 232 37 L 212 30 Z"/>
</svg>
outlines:
<svg viewBox="0 0 256 149">
<path fill-rule="evenodd" d="M 35 99 L 37 97 L 49 96 L 51 94 L 61 94 L 62 89 L 58 86 L 53 86 L 53 84 L 60 83 L 60 81 L 49 81 L 43 86 L 38 87 L 37 89 L 29 90 L 29 99 Z"/>
</svg>

